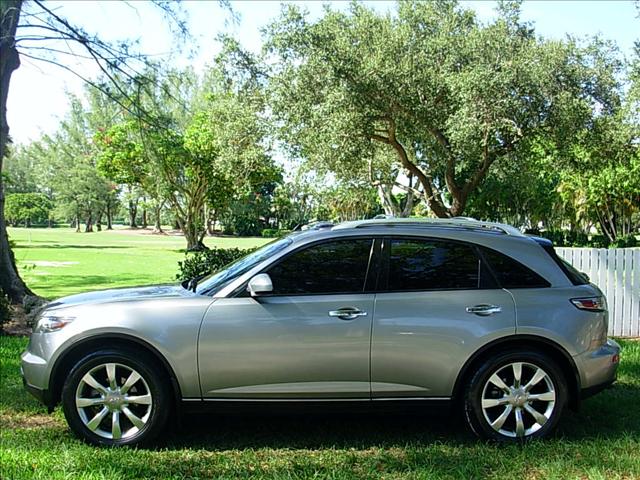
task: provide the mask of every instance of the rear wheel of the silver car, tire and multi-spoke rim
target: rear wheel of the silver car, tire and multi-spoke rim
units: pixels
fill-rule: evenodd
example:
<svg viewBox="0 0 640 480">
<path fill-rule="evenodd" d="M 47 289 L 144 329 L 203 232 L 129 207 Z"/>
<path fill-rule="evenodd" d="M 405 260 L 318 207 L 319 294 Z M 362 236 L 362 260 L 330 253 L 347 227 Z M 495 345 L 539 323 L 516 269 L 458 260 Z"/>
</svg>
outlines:
<svg viewBox="0 0 640 480">
<path fill-rule="evenodd" d="M 565 377 L 551 358 L 533 350 L 509 351 L 473 373 L 465 388 L 464 415 L 481 438 L 521 442 L 549 435 L 566 402 Z"/>
</svg>

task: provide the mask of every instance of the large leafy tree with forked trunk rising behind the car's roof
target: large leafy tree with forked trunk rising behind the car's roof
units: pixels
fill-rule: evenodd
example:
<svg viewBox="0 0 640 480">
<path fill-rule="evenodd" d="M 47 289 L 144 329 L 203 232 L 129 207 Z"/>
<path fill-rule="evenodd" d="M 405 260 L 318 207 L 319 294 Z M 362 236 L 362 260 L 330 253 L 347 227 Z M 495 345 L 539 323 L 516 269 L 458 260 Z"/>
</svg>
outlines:
<svg viewBox="0 0 640 480">
<path fill-rule="evenodd" d="M 488 24 L 456 2 L 353 3 L 316 22 L 288 7 L 262 68 L 292 155 L 356 178 L 382 147 L 435 215 L 463 214 L 493 165 L 568 135 L 600 93 L 577 49 L 536 37 L 515 5 Z"/>
</svg>

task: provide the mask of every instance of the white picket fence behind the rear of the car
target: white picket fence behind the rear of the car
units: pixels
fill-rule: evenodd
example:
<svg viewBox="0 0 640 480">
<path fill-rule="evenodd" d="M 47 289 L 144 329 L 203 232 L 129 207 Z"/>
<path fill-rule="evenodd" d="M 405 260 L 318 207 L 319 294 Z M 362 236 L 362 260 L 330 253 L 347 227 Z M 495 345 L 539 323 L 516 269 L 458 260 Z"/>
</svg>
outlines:
<svg viewBox="0 0 640 480">
<path fill-rule="evenodd" d="M 607 296 L 609 335 L 640 337 L 640 248 L 557 247 L 556 252 Z"/>
</svg>

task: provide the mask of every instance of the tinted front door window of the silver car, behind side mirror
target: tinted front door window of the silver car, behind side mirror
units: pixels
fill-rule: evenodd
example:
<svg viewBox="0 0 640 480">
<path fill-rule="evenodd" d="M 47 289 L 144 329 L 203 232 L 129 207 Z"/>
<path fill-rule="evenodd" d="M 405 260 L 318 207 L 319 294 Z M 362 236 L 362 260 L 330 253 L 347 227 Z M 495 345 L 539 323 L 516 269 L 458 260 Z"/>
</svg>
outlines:
<svg viewBox="0 0 640 480">
<path fill-rule="evenodd" d="M 339 240 L 295 252 L 269 269 L 276 295 L 364 290 L 372 240 Z"/>
</svg>

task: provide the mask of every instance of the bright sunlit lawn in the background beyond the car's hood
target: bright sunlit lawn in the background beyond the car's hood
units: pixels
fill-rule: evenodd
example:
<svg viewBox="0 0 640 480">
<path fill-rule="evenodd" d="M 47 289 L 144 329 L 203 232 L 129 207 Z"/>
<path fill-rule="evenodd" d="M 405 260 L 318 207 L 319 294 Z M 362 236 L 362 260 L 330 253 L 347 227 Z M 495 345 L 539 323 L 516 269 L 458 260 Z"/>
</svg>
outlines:
<svg viewBox="0 0 640 480">
<path fill-rule="evenodd" d="M 20 274 L 38 295 L 64 295 L 175 281 L 185 240 L 122 231 L 75 233 L 68 228 L 10 228 Z M 212 247 L 250 248 L 268 239 L 212 237 Z"/>
</svg>

